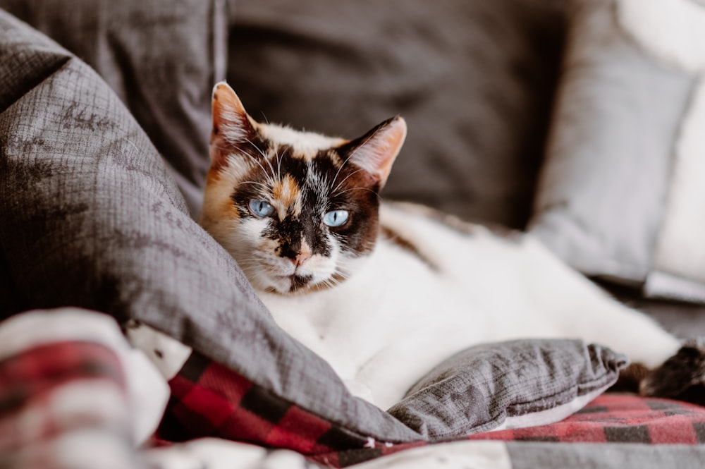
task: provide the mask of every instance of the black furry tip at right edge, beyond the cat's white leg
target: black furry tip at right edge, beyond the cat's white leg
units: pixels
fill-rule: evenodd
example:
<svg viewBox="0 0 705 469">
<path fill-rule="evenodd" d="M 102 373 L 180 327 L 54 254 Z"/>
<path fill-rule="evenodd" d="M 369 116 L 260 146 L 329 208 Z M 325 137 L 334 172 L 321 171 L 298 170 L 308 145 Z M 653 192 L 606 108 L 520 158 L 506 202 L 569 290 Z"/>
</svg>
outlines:
<svg viewBox="0 0 705 469">
<path fill-rule="evenodd" d="M 642 380 L 639 394 L 705 406 L 705 338 L 684 343 L 678 353 Z"/>
</svg>

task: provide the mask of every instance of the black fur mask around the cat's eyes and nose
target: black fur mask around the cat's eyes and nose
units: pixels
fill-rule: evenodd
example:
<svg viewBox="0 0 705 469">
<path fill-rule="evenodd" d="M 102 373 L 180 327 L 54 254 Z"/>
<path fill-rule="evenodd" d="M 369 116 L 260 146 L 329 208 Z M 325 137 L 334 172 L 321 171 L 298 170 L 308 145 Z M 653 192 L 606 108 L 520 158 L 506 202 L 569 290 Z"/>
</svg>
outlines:
<svg viewBox="0 0 705 469">
<path fill-rule="evenodd" d="M 269 226 L 263 232 L 278 244 L 278 255 L 295 258 L 301 250 L 303 237 L 312 254 L 327 257 L 333 248 L 328 233 L 338 240 L 345 252 L 362 255 L 372 251 L 379 232 L 379 181 L 354 164 L 343 164 L 347 156 L 341 156 L 340 149 L 322 150 L 307 160 L 297 157 L 288 145 L 275 147 L 269 142 L 254 143 L 273 156 L 265 160 L 249 145 L 249 157 L 259 164 L 250 164 L 243 183 L 231 195 L 240 217 L 255 217 L 248 207 L 250 200 L 273 197 L 271 179 L 283 180 L 289 176 L 299 185 L 300 214 L 295 214 L 292 205 L 284 219 L 278 219 L 276 214 L 270 217 Z M 240 150 L 246 148 L 240 147 Z M 348 221 L 341 226 L 326 226 L 324 214 L 336 209 L 347 210 Z M 303 284 L 303 280 L 299 284 Z M 296 288 L 300 288 L 299 284 Z"/>
</svg>

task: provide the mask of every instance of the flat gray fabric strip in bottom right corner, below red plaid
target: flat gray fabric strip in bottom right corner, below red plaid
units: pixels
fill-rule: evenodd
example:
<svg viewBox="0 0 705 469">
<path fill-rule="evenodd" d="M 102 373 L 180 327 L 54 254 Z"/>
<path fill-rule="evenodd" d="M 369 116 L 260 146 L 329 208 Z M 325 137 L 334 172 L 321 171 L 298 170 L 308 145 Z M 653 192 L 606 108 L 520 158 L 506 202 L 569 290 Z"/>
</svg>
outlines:
<svg viewBox="0 0 705 469">
<path fill-rule="evenodd" d="M 512 469 L 701 469 L 705 446 L 679 444 L 507 444 Z"/>
</svg>

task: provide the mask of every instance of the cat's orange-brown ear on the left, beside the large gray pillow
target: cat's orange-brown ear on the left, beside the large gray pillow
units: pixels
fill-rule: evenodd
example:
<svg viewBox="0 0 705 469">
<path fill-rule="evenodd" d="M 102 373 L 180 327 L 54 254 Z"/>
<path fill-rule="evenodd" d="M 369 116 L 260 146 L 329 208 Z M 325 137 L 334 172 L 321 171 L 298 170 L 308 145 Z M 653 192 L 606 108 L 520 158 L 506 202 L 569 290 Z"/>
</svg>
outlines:
<svg viewBox="0 0 705 469">
<path fill-rule="evenodd" d="M 213 128 L 211 131 L 211 163 L 226 166 L 233 149 L 245 150 L 257 137 L 257 123 L 252 120 L 233 88 L 220 82 L 213 88 Z"/>
</svg>

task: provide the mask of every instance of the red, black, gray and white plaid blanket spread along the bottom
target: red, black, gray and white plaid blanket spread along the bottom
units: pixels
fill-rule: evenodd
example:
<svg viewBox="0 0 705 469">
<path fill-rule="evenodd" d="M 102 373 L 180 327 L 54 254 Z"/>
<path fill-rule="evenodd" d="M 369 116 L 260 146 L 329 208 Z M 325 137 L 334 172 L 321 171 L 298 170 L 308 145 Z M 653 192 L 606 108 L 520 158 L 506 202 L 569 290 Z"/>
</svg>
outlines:
<svg viewBox="0 0 705 469">
<path fill-rule="evenodd" d="M 61 320 L 73 339 L 57 331 L 51 341 L 52 328 L 39 331 L 32 321 L 1 324 L 3 468 L 656 468 L 673 461 L 699 468 L 705 461 L 705 408 L 688 403 L 604 394 L 552 425 L 396 444 L 350 434 L 198 353 L 169 381 L 158 436 L 145 446 L 135 421 L 147 405 L 158 410 L 149 418 L 156 426 L 164 406 L 155 400 L 159 389 L 140 391 L 135 382 L 152 382 L 157 371 L 135 374 L 116 324 L 97 332 L 90 323 L 106 326 L 109 317 L 25 315 Z"/>
</svg>

